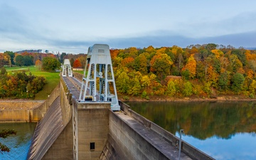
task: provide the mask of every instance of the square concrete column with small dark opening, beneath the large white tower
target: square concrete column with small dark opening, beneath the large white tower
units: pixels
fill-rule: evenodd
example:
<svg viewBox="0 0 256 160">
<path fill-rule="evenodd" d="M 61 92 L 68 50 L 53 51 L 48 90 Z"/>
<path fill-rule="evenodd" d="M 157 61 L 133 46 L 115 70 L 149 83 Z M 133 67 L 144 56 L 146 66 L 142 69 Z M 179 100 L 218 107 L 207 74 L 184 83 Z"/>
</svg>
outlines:
<svg viewBox="0 0 256 160">
<path fill-rule="evenodd" d="M 78 119 L 74 119 L 78 125 L 75 133 L 74 149 L 78 151 L 78 159 L 99 159 L 105 143 L 109 129 L 110 103 L 87 102 L 78 103 Z M 73 124 L 75 125 L 75 124 Z M 77 156 L 76 156 L 77 158 Z"/>
</svg>

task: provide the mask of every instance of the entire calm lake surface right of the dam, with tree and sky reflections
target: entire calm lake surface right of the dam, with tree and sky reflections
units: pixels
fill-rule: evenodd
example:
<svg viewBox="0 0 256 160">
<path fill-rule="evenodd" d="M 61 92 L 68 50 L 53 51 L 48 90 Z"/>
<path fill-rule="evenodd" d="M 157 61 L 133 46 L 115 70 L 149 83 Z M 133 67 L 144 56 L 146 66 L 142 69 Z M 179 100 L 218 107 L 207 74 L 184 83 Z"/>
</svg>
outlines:
<svg viewBox="0 0 256 160">
<path fill-rule="evenodd" d="M 127 102 L 218 160 L 256 159 L 256 102 Z"/>
</svg>

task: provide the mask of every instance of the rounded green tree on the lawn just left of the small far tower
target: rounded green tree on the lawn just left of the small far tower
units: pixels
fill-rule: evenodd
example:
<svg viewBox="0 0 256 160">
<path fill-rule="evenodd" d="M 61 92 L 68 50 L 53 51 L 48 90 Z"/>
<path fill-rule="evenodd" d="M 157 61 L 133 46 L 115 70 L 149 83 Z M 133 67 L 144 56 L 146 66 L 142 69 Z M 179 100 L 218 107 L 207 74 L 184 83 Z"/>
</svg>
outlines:
<svg viewBox="0 0 256 160">
<path fill-rule="evenodd" d="M 53 72 L 60 68 L 60 62 L 56 58 L 45 57 L 42 62 L 43 70 Z"/>
</svg>

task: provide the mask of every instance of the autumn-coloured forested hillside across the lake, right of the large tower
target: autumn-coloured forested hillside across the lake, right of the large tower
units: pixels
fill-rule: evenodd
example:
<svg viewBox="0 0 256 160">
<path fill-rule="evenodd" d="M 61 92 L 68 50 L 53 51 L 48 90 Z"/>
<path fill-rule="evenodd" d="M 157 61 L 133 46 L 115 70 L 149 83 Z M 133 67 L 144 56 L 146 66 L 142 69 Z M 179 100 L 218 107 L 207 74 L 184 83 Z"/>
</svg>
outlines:
<svg viewBox="0 0 256 160">
<path fill-rule="evenodd" d="M 127 99 L 130 95 L 255 97 L 256 50 L 210 43 L 110 51 L 117 90 Z"/>
</svg>

